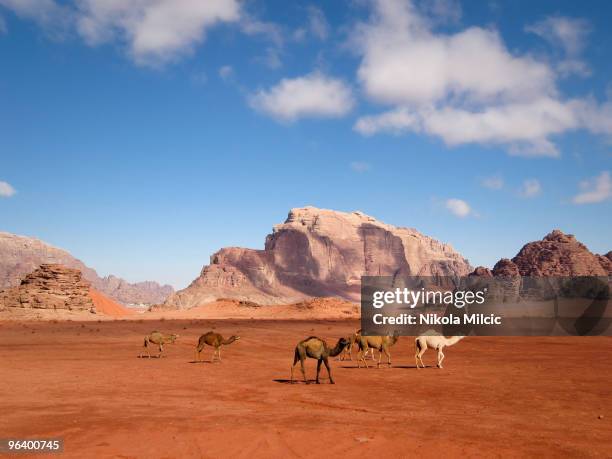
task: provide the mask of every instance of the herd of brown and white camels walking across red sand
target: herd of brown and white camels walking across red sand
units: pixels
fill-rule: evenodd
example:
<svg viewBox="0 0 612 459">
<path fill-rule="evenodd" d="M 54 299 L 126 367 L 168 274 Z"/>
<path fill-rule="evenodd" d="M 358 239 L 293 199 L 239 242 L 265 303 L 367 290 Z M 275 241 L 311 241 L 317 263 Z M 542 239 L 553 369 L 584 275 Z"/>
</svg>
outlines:
<svg viewBox="0 0 612 459">
<path fill-rule="evenodd" d="M 159 348 L 159 354 L 157 357 L 161 357 L 161 354 L 164 350 L 164 344 L 174 343 L 179 335 L 175 334 L 164 334 L 159 331 L 153 331 L 144 339 L 144 348 L 147 351 L 147 356 L 151 357 L 149 353 L 149 345 L 154 344 Z M 444 353 L 442 350 L 445 347 L 452 346 L 453 344 L 459 342 L 463 339 L 464 336 L 452 336 L 450 338 L 446 338 L 445 336 L 440 335 L 422 335 L 418 336 L 414 340 L 414 359 L 416 361 L 416 367 L 420 365 L 425 368 L 425 364 L 423 363 L 423 354 L 429 348 L 435 349 L 438 352 L 438 368 L 442 368 L 442 361 L 444 360 Z M 201 361 L 201 353 L 205 346 L 211 346 L 214 348 L 213 355 L 211 361 L 214 362 L 217 359 L 219 362 L 221 361 L 221 346 L 227 346 L 228 344 L 233 343 L 234 341 L 238 341 L 240 336 L 232 335 L 228 339 L 224 339 L 219 333 L 215 333 L 213 331 L 209 331 L 200 336 L 198 340 L 198 344 L 195 349 L 195 361 Z M 365 336 L 361 334 L 361 330 L 356 330 L 349 336 L 342 337 L 338 340 L 334 347 L 329 347 L 329 345 L 316 336 L 309 336 L 305 340 L 300 341 L 295 346 L 294 357 L 293 357 L 293 365 L 291 365 L 291 383 L 293 384 L 293 370 L 295 365 L 300 362 L 300 368 L 302 370 L 302 376 L 304 377 L 304 382 L 308 382 L 306 379 L 306 370 L 304 369 L 304 361 L 307 358 L 315 359 L 317 361 L 317 378 L 316 383 L 319 384 L 319 373 L 321 372 L 321 364 L 325 365 L 327 369 L 327 374 L 329 375 L 329 382 L 334 384 L 334 380 L 332 378 L 331 369 L 329 366 L 329 357 L 337 357 L 339 356 L 339 360 L 345 360 L 347 357 L 350 360 L 353 360 L 353 347 L 357 344 L 359 348 L 359 353 L 357 356 L 357 366 L 361 368 L 361 364 L 363 363 L 366 368 L 368 368 L 368 363 L 366 358 L 368 354 L 370 357 L 374 358 L 374 351 L 378 351 L 378 362 L 377 367 L 380 367 L 381 360 L 383 354 L 387 356 L 387 365 L 391 366 L 391 352 L 389 349 L 399 339 L 399 335 L 394 333 L 391 336 Z M 143 354 L 140 355 L 143 357 Z"/>
</svg>

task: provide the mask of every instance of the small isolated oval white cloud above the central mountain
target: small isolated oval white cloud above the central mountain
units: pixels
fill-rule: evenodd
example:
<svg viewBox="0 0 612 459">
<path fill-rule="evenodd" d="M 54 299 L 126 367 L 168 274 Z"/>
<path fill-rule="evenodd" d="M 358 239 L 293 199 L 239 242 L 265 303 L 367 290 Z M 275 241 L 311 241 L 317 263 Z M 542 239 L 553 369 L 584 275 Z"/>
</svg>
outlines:
<svg viewBox="0 0 612 459">
<path fill-rule="evenodd" d="M 280 121 L 303 117 L 340 117 L 354 104 L 352 92 L 343 81 L 314 72 L 298 78 L 283 78 L 277 85 L 249 98 L 256 110 Z"/>
</svg>

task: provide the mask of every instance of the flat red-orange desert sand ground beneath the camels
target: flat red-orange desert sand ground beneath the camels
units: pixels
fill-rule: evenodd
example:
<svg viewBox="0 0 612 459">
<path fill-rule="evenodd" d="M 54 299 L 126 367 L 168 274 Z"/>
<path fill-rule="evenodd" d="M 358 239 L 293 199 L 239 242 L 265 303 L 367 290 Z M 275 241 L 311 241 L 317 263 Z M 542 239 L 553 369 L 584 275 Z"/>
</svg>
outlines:
<svg viewBox="0 0 612 459">
<path fill-rule="evenodd" d="M 69 457 L 612 455 L 611 338 L 466 338 L 416 370 L 405 337 L 393 368 L 333 361 L 335 385 L 287 383 L 297 341 L 357 325 L 0 322 L 0 437 L 63 437 Z M 211 328 L 242 339 L 190 363 Z M 138 358 L 152 329 L 181 336 Z"/>
</svg>

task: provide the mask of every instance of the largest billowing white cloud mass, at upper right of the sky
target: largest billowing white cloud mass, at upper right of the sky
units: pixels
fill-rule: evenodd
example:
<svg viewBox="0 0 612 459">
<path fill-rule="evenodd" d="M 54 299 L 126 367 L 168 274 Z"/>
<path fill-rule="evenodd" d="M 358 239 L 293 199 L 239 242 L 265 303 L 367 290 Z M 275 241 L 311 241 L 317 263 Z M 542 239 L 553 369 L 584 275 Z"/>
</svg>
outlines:
<svg viewBox="0 0 612 459">
<path fill-rule="evenodd" d="M 358 78 L 364 92 L 391 108 L 359 118 L 356 131 L 415 132 L 449 146 L 498 145 L 514 154 L 544 156 L 557 156 L 552 137 L 570 130 L 612 134 L 607 104 L 563 100 L 558 72 L 509 51 L 495 30 L 435 33 L 411 2 L 374 5 L 371 20 L 357 27 L 352 42 L 362 54 Z M 569 35 L 564 46 L 571 47 Z M 576 62 L 566 65 L 566 71 L 579 71 Z"/>
</svg>

